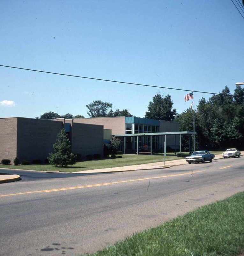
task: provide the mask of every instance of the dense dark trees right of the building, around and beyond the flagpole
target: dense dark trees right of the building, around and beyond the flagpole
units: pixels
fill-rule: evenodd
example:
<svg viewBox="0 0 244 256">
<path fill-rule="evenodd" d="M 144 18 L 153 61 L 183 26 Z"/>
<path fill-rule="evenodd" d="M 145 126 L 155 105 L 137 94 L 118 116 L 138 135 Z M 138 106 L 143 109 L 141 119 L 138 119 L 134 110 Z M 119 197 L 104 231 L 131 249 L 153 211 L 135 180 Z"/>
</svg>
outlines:
<svg viewBox="0 0 244 256">
<path fill-rule="evenodd" d="M 193 131 L 193 110 L 186 109 L 174 121 L 180 123 L 180 131 Z M 195 148 L 243 149 L 244 89 L 237 86 L 231 96 L 230 89 L 225 86 L 219 95 L 209 100 L 201 98 L 195 110 L 195 131 Z M 188 136 L 182 139 L 183 145 L 189 145 Z M 188 150 L 187 146 L 184 149 Z"/>
</svg>

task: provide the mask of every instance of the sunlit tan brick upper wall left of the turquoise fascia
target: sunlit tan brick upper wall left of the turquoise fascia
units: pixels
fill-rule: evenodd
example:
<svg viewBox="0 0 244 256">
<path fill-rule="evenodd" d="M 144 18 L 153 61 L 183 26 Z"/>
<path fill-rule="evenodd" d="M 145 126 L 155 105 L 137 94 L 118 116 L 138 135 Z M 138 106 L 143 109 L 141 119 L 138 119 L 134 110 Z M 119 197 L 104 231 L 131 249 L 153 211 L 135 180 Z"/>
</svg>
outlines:
<svg viewBox="0 0 244 256">
<path fill-rule="evenodd" d="M 125 134 L 125 117 L 78 118 L 74 123 L 103 125 L 104 129 L 112 130 L 112 134 Z"/>
</svg>

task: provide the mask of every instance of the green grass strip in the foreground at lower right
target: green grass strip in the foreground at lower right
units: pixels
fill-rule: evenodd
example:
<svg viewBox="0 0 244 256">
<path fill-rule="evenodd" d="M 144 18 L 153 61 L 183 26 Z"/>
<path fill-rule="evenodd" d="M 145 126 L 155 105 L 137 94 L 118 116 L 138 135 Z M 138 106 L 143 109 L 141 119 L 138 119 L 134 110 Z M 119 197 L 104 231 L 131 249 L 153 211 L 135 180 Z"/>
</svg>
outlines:
<svg viewBox="0 0 244 256">
<path fill-rule="evenodd" d="M 244 192 L 136 233 L 92 256 L 235 256 L 244 247 Z M 88 254 L 85 254 L 88 255 Z"/>
</svg>

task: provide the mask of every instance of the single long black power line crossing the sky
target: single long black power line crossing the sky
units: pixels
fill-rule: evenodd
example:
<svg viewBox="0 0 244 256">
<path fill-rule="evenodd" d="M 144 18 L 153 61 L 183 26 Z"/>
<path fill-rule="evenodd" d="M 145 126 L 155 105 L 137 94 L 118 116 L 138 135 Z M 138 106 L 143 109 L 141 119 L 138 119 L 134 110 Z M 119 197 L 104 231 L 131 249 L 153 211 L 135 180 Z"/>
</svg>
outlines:
<svg viewBox="0 0 244 256">
<path fill-rule="evenodd" d="M 30 68 L 19 68 L 19 67 L 12 67 L 12 66 L 6 66 L 6 65 L 0 65 L 0 67 L 16 68 L 16 69 L 22 69 L 22 70 L 28 70 L 28 71 L 34 71 L 34 72 L 41 72 L 41 73 L 47 73 L 47 74 L 53 74 L 53 75 L 60 75 L 60 76 L 72 76 L 72 77 L 79 77 L 79 78 L 92 79 L 92 80 L 105 81 L 105 82 L 112 82 L 112 83 L 140 85 L 140 86 L 156 87 L 156 88 L 163 88 L 163 89 L 169 89 L 169 90 L 185 91 L 185 92 L 193 92 L 194 91 L 194 92 L 200 92 L 200 93 L 208 93 L 208 94 L 216 94 L 216 95 L 232 96 L 233 97 L 233 95 L 231 95 L 231 94 L 223 94 L 223 93 L 215 93 L 215 92 L 203 92 L 203 91 L 195 91 L 195 90 L 186 90 L 186 89 L 171 88 L 171 87 L 149 85 L 149 84 L 135 84 L 135 83 L 115 81 L 115 80 L 108 80 L 108 79 L 100 79 L 100 78 L 94 78 L 94 77 L 75 76 L 75 75 L 69 75 L 69 74 L 55 73 L 55 72 L 36 70 L 36 69 L 30 69 Z"/>
</svg>

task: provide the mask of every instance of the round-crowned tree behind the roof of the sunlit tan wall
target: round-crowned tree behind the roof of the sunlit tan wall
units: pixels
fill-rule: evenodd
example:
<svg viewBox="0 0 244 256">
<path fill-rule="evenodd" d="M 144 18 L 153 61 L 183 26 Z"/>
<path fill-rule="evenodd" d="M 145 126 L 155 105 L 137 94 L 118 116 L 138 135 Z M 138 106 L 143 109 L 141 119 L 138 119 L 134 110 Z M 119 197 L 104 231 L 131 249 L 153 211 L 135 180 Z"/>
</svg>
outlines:
<svg viewBox="0 0 244 256">
<path fill-rule="evenodd" d="M 86 108 L 88 108 L 87 115 L 90 117 L 106 117 L 109 111 L 112 110 L 112 107 L 112 103 L 94 100 L 92 103 L 86 105 Z"/>
</svg>

